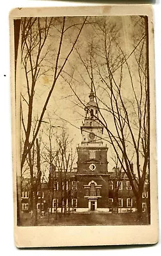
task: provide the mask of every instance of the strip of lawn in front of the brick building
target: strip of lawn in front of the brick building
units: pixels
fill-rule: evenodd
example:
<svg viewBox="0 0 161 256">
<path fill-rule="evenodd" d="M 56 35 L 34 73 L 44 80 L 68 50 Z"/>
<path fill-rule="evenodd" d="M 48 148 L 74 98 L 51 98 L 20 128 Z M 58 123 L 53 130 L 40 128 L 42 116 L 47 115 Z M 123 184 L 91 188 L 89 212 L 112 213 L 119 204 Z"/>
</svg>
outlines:
<svg viewBox="0 0 161 256">
<path fill-rule="evenodd" d="M 31 215 L 23 214 L 22 226 L 31 226 Z M 38 226 L 91 226 L 91 225 L 148 225 L 146 214 L 138 218 L 137 212 L 128 213 L 77 213 L 38 216 Z"/>
</svg>

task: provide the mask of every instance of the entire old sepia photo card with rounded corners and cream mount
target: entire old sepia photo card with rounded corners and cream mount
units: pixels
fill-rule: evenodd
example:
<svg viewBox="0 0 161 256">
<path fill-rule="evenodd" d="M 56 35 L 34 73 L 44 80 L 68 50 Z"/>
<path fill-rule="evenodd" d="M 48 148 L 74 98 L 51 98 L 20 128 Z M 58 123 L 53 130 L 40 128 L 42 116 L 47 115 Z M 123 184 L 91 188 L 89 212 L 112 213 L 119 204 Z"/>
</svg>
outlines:
<svg viewBox="0 0 161 256">
<path fill-rule="evenodd" d="M 158 241 L 150 5 L 10 13 L 15 244 Z"/>
</svg>

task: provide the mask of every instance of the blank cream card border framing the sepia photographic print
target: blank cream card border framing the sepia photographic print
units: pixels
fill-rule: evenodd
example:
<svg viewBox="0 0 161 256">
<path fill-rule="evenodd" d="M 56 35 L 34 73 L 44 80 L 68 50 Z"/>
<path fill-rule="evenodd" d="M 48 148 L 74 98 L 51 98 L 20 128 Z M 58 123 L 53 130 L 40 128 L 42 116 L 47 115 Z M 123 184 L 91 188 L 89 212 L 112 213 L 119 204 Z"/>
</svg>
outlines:
<svg viewBox="0 0 161 256">
<path fill-rule="evenodd" d="M 86 16 L 86 15 L 147 15 L 149 26 L 150 60 L 150 172 L 151 225 L 148 226 L 70 226 L 70 227 L 17 227 L 17 180 L 20 169 L 20 100 L 15 102 L 13 19 L 20 17 Z M 16 8 L 10 12 L 11 52 L 11 115 L 13 145 L 13 196 L 15 214 L 15 244 L 19 248 L 49 246 L 95 246 L 111 244 L 154 244 L 158 241 L 157 154 L 155 118 L 155 72 L 153 10 L 150 4 L 100 5 L 56 8 Z M 19 93 L 19 88 L 17 94 Z"/>
</svg>

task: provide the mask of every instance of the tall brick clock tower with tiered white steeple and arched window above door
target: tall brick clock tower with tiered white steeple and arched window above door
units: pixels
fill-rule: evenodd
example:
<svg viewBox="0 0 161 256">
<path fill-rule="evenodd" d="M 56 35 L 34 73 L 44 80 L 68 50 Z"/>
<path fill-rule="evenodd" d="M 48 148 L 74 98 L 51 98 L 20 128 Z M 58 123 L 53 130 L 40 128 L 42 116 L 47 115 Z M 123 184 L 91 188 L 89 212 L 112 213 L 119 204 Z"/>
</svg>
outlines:
<svg viewBox="0 0 161 256">
<path fill-rule="evenodd" d="M 108 148 L 102 140 L 104 127 L 99 119 L 93 83 L 84 111 L 82 141 L 77 147 L 77 211 L 105 211 L 108 207 Z"/>
</svg>

